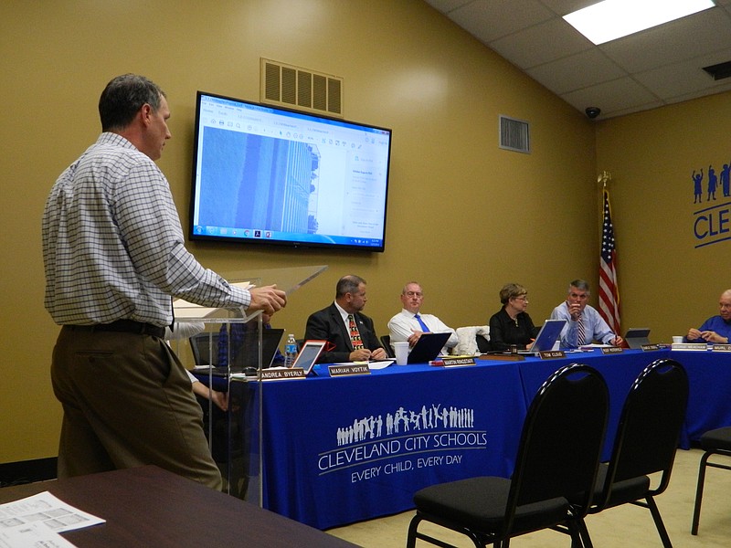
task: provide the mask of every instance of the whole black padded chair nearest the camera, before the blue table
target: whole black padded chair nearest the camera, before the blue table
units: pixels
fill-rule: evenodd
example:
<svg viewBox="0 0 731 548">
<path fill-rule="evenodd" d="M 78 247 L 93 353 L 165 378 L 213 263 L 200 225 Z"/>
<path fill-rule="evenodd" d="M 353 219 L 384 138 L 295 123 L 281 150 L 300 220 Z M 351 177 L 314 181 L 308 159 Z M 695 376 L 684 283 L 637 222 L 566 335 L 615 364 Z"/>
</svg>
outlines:
<svg viewBox="0 0 731 548">
<path fill-rule="evenodd" d="M 512 478 L 461 479 L 419 490 L 407 548 L 417 539 L 451 546 L 418 532 L 425 521 L 460 532 L 480 548 L 507 547 L 511 537 L 547 528 L 569 533 L 572 546 L 580 546 L 579 520 L 597 477 L 608 409 L 607 385 L 595 369 L 559 369 L 528 409 Z M 568 494 L 577 492 L 585 500 L 569 504 Z"/>
</svg>

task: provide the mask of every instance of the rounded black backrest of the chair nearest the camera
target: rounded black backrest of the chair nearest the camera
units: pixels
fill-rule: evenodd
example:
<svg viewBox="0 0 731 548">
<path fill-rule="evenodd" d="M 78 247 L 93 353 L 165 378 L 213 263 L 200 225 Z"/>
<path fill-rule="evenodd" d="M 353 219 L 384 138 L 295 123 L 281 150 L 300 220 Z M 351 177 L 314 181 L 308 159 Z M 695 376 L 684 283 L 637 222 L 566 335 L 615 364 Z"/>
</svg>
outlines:
<svg viewBox="0 0 731 548">
<path fill-rule="evenodd" d="M 586 515 L 608 416 L 609 390 L 597 370 L 570 364 L 551 375 L 525 418 L 507 511 L 583 493 L 578 513 Z"/>
</svg>

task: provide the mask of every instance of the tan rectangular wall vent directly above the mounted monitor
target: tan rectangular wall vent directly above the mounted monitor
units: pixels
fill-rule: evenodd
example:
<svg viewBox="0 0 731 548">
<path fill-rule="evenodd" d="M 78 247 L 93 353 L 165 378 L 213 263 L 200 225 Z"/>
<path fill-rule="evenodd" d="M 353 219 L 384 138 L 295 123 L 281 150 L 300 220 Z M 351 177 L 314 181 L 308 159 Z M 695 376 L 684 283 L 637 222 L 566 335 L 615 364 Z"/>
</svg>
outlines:
<svg viewBox="0 0 731 548">
<path fill-rule="evenodd" d="M 260 100 L 343 118 L 343 79 L 261 58 Z"/>
</svg>

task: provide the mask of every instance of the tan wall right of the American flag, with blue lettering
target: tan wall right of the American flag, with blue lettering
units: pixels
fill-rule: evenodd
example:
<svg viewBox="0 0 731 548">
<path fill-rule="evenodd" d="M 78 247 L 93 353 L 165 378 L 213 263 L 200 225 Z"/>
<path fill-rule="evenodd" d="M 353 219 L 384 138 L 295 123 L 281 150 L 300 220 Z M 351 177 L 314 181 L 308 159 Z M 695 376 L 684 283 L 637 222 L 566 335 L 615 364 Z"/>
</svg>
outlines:
<svg viewBox="0 0 731 548">
<path fill-rule="evenodd" d="M 620 248 L 624 327 L 652 327 L 653 341 L 669 342 L 718 313 L 728 275 L 731 197 L 716 190 L 706 201 L 708 166 L 719 175 L 731 163 L 731 93 L 603 121 L 597 126 L 598 168 L 611 172 L 612 216 Z M 703 168 L 703 201 L 694 204 L 694 170 Z M 725 233 L 695 237 L 694 212 L 716 208 L 714 227 Z M 726 223 L 718 226 L 718 209 Z M 710 213 L 710 212 L 709 212 Z M 708 215 L 707 213 L 705 215 Z"/>
</svg>

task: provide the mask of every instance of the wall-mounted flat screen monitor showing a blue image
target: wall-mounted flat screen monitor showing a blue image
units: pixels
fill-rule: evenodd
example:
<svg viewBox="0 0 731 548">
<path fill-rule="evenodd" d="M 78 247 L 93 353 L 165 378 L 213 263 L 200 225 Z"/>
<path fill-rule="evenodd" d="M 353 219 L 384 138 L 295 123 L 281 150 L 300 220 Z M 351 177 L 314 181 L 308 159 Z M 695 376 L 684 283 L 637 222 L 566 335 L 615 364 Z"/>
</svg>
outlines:
<svg viewBox="0 0 731 548">
<path fill-rule="evenodd" d="M 190 237 L 383 251 L 391 131 L 198 91 Z"/>
</svg>

